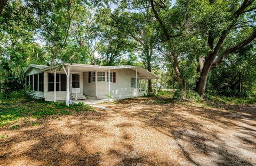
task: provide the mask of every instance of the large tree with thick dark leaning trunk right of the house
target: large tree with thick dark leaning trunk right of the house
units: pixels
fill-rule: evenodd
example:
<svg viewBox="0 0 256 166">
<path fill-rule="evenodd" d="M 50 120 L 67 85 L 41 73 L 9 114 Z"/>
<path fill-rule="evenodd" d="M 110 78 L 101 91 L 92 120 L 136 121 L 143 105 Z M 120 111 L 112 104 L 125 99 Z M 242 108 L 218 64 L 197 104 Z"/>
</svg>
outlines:
<svg viewBox="0 0 256 166">
<path fill-rule="evenodd" d="M 255 21 L 252 14 L 255 10 L 254 0 L 177 1 L 174 7 L 166 1 L 150 0 L 150 6 L 166 41 L 172 42 L 172 39 L 183 36 L 186 29 L 191 26 L 198 40 L 207 41 L 209 49 L 207 55 L 198 57 L 200 77 L 196 84 L 196 91 L 201 97 L 204 95 L 207 76 L 211 69 L 217 67 L 228 55 L 243 48 L 256 37 L 256 29 L 249 24 Z M 178 23 L 175 23 L 171 19 L 172 14 L 179 8 L 185 8 L 183 11 L 189 14 L 181 17 L 183 21 L 179 18 Z M 246 27 L 246 31 L 240 30 L 241 26 Z M 247 32 L 250 34 L 246 36 Z M 239 40 L 234 39 L 234 36 Z M 233 45 L 228 46 L 227 42 Z"/>
</svg>

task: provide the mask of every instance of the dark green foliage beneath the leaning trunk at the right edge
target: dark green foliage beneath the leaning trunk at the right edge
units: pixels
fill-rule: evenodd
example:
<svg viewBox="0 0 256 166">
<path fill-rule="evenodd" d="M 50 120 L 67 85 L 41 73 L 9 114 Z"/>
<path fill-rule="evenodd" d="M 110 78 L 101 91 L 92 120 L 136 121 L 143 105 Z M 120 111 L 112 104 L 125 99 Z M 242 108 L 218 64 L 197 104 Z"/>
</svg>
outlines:
<svg viewBox="0 0 256 166">
<path fill-rule="evenodd" d="M 255 48 L 248 45 L 213 69 L 206 92 L 227 97 L 251 97 L 256 82 Z M 241 91 L 239 91 L 241 81 Z"/>
</svg>

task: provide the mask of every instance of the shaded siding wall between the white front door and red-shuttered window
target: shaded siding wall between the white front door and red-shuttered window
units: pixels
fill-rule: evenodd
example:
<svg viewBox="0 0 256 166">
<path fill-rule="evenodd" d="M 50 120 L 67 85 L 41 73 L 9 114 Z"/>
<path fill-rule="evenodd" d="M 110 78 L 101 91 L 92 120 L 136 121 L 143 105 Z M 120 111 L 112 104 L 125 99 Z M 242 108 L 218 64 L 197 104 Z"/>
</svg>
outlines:
<svg viewBox="0 0 256 166">
<path fill-rule="evenodd" d="M 89 72 L 85 72 L 83 75 L 83 93 L 86 96 L 95 97 L 95 82 L 88 82 Z"/>
</svg>

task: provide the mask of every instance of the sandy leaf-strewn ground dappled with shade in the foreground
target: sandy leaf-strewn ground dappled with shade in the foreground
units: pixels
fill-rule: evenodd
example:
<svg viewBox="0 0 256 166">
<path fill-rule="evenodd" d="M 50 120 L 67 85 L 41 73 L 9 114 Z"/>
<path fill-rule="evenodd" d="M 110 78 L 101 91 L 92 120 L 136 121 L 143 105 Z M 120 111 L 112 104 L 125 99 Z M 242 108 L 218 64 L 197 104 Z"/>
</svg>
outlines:
<svg viewBox="0 0 256 166">
<path fill-rule="evenodd" d="M 0 165 L 256 165 L 256 106 L 139 98 L 0 128 Z"/>
</svg>

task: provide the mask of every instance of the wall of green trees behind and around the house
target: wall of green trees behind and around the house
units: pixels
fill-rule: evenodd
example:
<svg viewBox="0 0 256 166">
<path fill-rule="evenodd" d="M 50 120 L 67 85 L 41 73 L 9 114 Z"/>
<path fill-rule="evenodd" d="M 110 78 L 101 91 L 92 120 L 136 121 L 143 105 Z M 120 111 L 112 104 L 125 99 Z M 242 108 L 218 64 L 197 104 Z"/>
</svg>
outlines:
<svg viewBox="0 0 256 166">
<path fill-rule="evenodd" d="M 0 5 L 2 92 L 23 88 L 23 70 L 31 63 L 82 63 L 142 66 L 184 98 L 187 90 L 201 97 L 254 93 L 254 0 L 2 0 Z"/>
</svg>

